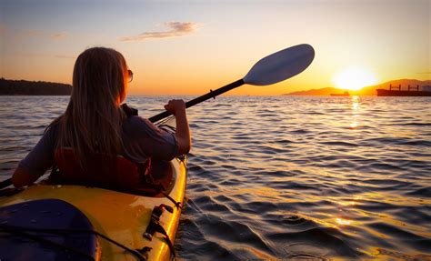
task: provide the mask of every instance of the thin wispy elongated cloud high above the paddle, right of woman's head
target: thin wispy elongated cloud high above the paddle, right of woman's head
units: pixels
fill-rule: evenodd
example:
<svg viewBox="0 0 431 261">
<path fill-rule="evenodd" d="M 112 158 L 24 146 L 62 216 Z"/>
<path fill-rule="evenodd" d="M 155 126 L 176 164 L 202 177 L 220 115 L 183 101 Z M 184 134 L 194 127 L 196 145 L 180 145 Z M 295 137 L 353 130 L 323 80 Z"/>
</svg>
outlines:
<svg viewBox="0 0 431 261">
<path fill-rule="evenodd" d="M 168 31 L 145 32 L 141 35 L 120 37 L 122 42 L 139 42 L 147 39 L 172 38 L 183 35 L 190 35 L 195 32 L 196 23 L 193 22 L 165 22 Z"/>
</svg>

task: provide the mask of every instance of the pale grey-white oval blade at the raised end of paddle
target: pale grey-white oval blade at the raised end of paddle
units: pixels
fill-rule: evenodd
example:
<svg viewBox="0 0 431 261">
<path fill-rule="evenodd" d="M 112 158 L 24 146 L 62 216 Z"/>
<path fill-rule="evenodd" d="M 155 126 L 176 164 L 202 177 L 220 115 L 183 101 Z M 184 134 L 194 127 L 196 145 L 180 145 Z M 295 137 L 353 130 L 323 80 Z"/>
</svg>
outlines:
<svg viewBox="0 0 431 261">
<path fill-rule="evenodd" d="M 295 45 L 260 59 L 243 78 L 248 85 L 272 85 L 295 76 L 311 65 L 311 45 Z"/>
</svg>

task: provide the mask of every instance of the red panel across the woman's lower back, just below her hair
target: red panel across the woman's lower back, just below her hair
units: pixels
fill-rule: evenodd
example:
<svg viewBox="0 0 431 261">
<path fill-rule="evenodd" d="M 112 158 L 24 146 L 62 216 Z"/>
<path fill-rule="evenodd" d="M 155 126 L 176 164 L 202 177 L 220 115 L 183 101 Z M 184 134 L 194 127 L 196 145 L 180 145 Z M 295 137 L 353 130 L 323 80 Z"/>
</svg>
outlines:
<svg viewBox="0 0 431 261">
<path fill-rule="evenodd" d="M 142 170 L 123 156 L 88 156 L 87 165 L 83 168 L 71 148 L 60 148 L 55 150 L 55 162 L 59 172 L 53 172 L 50 176 L 55 183 L 116 190 L 127 190 L 142 184 Z"/>
</svg>

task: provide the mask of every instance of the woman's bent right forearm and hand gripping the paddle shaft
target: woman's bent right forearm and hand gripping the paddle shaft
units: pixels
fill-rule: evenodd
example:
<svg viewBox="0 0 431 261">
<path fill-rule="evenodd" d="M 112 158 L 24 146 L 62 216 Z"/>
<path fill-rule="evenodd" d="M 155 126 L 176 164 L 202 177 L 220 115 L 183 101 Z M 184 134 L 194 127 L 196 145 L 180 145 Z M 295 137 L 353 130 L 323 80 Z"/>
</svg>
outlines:
<svg viewBox="0 0 431 261">
<path fill-rule="evenodd" d="M 192 146 L 190 129 L 188 127 L 187 116 L 185 115 L 185 102 L 183 100 L 170 100 L 165 105 L 165 109 L 175 115 L 175 136 L 179 146 L 178 155 L 185 155 L 190 151 Z"/>
</svg>

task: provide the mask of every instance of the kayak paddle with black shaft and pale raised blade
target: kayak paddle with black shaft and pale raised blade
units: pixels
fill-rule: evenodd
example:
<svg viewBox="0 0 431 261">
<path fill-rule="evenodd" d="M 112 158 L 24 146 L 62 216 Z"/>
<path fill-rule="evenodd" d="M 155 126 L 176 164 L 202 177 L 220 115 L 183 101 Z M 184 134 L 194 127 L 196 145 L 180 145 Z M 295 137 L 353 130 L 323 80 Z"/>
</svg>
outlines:
<svg viewBox="0 0 431 261">
<path fill-rule="evenodd" d="M 241 85 L 272 85 L 284 81 L 304 71 L 311 64 L 314 57 L 315 50 L 311 45 L 295 45 L 286 48 L 262 58 L 244 78 L 190 100 L 185 103 L 185 107 L 188 108 L 207 99 L 216 98 L 217 95 L 224 94 Z M 165 111 L 150 117 L 149 120 L 155 123 L 169 115 L 172 114 Z"/>
</svg>

